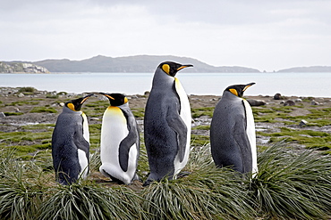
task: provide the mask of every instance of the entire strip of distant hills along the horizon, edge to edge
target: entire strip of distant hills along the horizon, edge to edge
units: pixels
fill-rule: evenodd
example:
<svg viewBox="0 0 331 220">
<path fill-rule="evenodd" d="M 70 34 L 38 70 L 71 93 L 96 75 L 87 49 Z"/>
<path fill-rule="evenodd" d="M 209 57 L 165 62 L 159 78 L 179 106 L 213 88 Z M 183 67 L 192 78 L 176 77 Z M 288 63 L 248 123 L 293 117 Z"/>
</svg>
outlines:
<svg viewBox="0 0 331 220">
<path fill-rule="evenodd" d="M 110 57 L 104 55 L 93 56 L 81 61 L 72 61 L 69 59 L 47 59 L 43 61 L 0 61 L 11 68 L 0 68 L 0 72 L 21 73 L 38 71 L 38 73 L 49 72 L 154 72 L 162 61 L 175 61 L 182 64 L 192 64 L 194 68 L 184 69 L 186 72 L 199 73 L 252 73 L 261 72 L 259 69 L 246 68 L 240 66 L 212 66 L 206 62 L 199 61 L 190 57 L 180 57 L 174 55 L 132 55 L 123 57 Z M 30 69 L 22 69 L 21 65 L 33 65 Z M 40 70 L 40 68 L 44 68 Z M 44 71 L 45 70 L 45 71 Z M 263 71 L 266 72 L 266 71 Z M 293 67 L 289 69 L 279 69 L 273 73 L 282 72 L 331 72 L 331 66 L 310 66 Z"/>
</svg>

